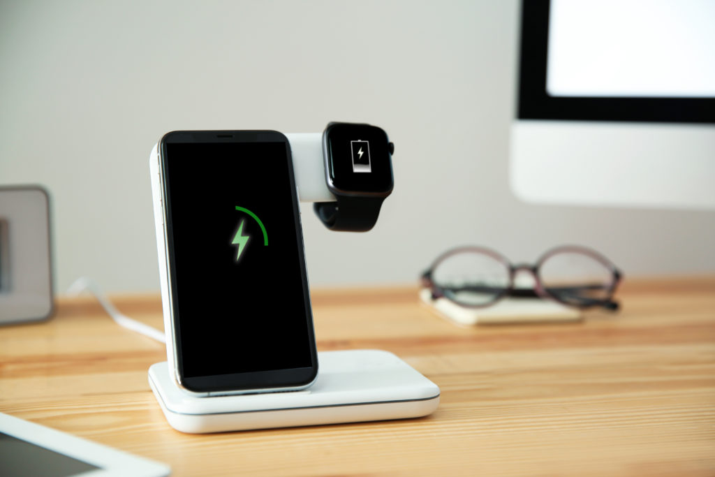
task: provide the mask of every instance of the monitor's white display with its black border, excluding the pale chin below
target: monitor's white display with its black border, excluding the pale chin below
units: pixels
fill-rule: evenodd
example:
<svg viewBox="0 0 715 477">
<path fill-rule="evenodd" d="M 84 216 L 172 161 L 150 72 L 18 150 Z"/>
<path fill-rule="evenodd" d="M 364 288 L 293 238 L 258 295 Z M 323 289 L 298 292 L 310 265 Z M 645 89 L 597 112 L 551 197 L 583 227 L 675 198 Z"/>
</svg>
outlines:
<svg viewBox="0 0 715 477">
<path fill-rule="evenodd" d="M 715 123 L 710 19 L 709 0 L 523 0 L 518 118 Z"/>
</svg>

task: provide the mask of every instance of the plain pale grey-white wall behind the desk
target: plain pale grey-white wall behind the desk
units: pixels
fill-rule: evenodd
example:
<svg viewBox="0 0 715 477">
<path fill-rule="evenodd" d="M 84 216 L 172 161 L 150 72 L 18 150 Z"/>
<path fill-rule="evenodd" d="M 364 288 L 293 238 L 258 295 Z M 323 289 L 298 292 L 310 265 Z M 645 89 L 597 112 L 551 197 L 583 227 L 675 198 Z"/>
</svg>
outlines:
<svg viewBox="0 0 715 477">
<path fill-rule="evenodd" d="M 159 287 L 149 150 L 172 129 L 371 122 L 395 191 L 367 234 L 303 206 L 312 285 L 415 282 L 439 252 L 591 245 L 627 275 L 715 272 L 711 212 L 547 207 L 508 189 L 516 0 L 5 1 L 0 184 L 53 197 L 56 286 Z"/>
</svg>

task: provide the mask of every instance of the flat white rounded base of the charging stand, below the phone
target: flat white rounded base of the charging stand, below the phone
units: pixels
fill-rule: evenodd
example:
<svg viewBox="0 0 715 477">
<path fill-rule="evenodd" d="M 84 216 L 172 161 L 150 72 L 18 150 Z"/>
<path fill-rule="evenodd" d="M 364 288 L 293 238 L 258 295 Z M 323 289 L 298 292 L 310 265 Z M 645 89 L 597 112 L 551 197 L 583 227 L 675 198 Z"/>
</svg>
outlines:
<svg viewBox="0 0 715 477">
<path fill-rule="evenodd" d="M 196 398 L 177 387 L 166 361 L 149 368 L 149 385 L 169 424 L 185 433 L 418 418 L 439 404 L 440 388 L 393 353 L 317 355 L 317 379 L 307 390 Z"/>
</svg>

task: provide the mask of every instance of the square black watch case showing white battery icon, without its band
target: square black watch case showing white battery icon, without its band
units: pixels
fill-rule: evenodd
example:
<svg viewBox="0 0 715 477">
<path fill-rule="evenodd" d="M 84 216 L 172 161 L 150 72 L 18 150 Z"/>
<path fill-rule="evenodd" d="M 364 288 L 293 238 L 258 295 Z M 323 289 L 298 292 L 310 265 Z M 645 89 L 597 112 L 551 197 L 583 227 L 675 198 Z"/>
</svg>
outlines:
<svg viewBox="0 0 715 477">
<path fill-rule="evenodd" d="M 330 124 L 324 141 L 331 189 L 373 194 L 393 189 L 388 135 L 383 129 L 369 124 Z"/>
</svg>

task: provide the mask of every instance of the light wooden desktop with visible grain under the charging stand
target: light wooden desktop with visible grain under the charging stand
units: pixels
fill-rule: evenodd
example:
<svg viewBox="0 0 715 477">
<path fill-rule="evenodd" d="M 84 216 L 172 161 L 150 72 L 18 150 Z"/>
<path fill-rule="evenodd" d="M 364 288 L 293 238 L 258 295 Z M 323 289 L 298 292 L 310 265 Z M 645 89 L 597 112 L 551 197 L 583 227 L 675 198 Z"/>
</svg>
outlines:
<svg viewBox="0 0 715 477">
<path fill-rule="evenodd" d="M 442 390 L 428 418 L 192 436 L 147 384 L 164 346 L 89 298 L 0 328 L 0 410 L 174 475 L 715 475 L 715 279 L 626 282 L 618 315 L 457 328 L 417 290 L 316 291 L 318 348 L 396 353 Z M 156 296 L 119 310 L 161 328 Z"/>
</svg>

